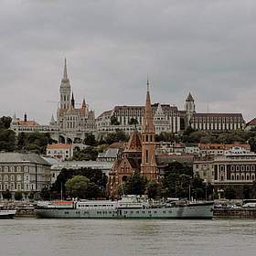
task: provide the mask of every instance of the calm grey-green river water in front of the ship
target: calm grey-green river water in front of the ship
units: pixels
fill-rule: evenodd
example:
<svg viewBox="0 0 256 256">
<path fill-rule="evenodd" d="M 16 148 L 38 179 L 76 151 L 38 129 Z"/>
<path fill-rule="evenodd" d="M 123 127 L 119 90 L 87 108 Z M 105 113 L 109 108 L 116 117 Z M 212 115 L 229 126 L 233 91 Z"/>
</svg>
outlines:
<svg viewBox="0 0 256 256">
<path fill-rule="evenodd" d="M 256 220 L 0 219 L 0 256 L 256 255 Z"/>
</svg>

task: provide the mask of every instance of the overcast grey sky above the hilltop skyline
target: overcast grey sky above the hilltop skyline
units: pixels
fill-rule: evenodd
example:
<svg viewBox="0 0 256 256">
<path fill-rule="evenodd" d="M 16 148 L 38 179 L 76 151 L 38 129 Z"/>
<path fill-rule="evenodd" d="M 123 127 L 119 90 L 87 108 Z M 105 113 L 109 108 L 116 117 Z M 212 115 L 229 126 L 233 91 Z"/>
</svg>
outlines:
<svg viewBox="0 0 256 256">
<path fill-rule="evenodd" d="M 153 102 L 255 114 L 255 0 L 0 0 L 0 116 L 56 117 L 64 58 L 96 112 Z"/>
</svg>

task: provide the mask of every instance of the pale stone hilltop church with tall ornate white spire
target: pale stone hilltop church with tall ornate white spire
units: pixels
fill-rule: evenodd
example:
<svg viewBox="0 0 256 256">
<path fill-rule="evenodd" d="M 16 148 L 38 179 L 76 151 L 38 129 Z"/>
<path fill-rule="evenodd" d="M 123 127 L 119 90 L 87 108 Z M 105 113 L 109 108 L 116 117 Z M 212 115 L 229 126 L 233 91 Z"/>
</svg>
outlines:
<svg viewBox="0 0 256 256">
<path fill-rule="evenodd" d="M 82 133 L 93 133 L 95 131 L 94 112 L 89 109 L 84 98 L 77 108 L 74 92 L 71 91 L 67 59 L 65 59 L 63 78 L 59 87 L 59 108 L 57 112 L 59 133 L 65 134 L 69 138 L 82 137 Z M 53 123 L 53 121 L 51 122 Z"/>
</svg>

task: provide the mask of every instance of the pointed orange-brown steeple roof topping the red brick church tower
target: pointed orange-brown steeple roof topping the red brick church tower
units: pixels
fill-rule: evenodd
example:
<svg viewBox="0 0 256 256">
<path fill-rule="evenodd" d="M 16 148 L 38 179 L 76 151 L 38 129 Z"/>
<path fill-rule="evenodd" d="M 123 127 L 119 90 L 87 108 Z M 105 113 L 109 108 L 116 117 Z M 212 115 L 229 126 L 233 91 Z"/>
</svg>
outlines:
<svg viewBox="0 0 256 256">
<path fill-rule="evenodd" d="M 152 116 L 152 108 L 151 108 L 148 80 L 146 82 L 146 100 L 145 100 L 145 109 L 144 109 L 143 132 L 155 133 L 155 126 L 154 126 L 153 116 Z"/>
</svg>

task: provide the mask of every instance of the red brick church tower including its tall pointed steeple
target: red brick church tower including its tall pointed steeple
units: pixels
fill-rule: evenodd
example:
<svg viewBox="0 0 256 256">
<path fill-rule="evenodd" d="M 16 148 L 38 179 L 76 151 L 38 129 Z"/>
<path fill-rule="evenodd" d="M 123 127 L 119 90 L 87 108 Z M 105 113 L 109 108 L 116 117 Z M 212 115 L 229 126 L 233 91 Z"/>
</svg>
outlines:
<svg viewBox="0 0 256 256">
<path fill-rule="evenodd" d="M 158 181 L 159 173 L 155 162 L 155 126 L 151 108 L 148 80 L 142 131 L 141 174 L 149 180 Z"/>
</svg>

